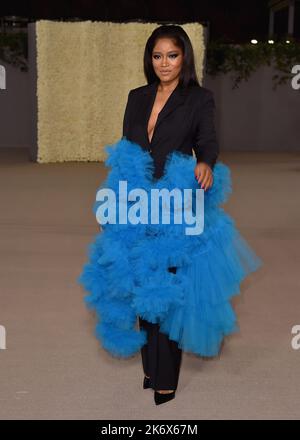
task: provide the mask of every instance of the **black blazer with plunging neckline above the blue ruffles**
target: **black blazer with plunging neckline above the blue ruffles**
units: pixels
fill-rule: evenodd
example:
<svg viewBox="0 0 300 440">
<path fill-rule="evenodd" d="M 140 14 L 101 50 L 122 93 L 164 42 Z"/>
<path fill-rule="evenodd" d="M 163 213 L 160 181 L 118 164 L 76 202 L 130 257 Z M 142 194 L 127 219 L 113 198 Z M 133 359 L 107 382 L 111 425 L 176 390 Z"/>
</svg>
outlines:
<svg viewBox="0 0 300 440">
<path fill-rule="evenodd" d="M 123 138 L 138 143 L 153 157 L 156 178 L 162 176 L 167 155 L 173 150 L 192 155 L 212 169 L 219 154 L 214 126 L 213 93 L 202 86 L 177 85 L 159 112 L 151 142 L 147 125 L 158 81 L 129 91 L 123 119 Z"/>
</svg>

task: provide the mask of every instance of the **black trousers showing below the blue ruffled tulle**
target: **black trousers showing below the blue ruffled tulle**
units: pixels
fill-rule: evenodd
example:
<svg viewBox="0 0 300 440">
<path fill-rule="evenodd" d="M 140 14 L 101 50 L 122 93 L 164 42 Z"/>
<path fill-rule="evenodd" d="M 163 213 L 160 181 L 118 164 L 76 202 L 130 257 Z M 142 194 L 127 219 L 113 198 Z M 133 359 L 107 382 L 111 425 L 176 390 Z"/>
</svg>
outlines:
<svg viewBox="0 0 300 440">
<path fill-rule="evenodd" d="M 169 268 L 176 273 L 176 268 Z M 147 333 L 147 343 L 141 348 L 144 374 L 150 376 L 154 390 L 176 390 L 182 360 L 182 350 L 176 341 L 159 331 L 153 324 L 139 316 L 139 327 Z"/>
</svg>

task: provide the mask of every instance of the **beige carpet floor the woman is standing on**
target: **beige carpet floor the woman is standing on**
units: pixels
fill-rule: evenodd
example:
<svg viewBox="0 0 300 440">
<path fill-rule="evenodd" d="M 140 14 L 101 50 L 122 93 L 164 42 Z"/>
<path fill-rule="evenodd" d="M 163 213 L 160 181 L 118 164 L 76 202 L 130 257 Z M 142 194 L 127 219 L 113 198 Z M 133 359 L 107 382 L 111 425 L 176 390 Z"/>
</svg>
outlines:
<svg viewBox="0 0 300 440">
<path fill-rule="evenodd" d="M 240 333 L 218 358 L 184 353 L 176 398 L 156 406 L 140 354 L 118 360 L 100 347 L 76 283 L 98 232 L 103 163 L 0 152 L 1 419 L 299 419 L 300 154 L 220 160 L 233 179 L 226 211 L 264 266 L 234 298 Z"/>
</svg>

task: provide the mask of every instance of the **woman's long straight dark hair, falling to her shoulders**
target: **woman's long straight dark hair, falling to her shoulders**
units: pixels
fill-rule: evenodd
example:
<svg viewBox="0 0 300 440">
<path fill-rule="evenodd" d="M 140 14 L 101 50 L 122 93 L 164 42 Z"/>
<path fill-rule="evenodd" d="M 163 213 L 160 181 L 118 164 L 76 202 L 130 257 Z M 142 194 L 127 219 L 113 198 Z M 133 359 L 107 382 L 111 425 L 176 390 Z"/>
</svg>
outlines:
<svg viewBox="0 0 300 440">
<path fill-rule="evenodd" d="M 183 63 L 179 77 L 179 87 L 200 85 L 196 69 L 192 43 L 189 36 L 181 26 L 174 24 L 162 25 L 154 29 L 147 40 L 144 51 L 144 74 L 148 84 L 159 81 L 152 66 L 152 51 L 159 38 L 171 38 L 174 44 L 180 47 L 183 52 Z"/>
</svg>

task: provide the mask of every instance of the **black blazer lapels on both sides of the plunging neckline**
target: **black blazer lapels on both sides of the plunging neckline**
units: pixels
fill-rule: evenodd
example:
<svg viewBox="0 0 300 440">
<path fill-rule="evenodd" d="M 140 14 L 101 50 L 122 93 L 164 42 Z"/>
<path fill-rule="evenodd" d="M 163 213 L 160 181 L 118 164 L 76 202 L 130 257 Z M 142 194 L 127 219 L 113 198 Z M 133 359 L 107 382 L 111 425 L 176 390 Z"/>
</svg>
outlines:
<svg viewBox="0 0 300 440">
<path fill-rule="evenodd" d="M 154 127 L 154 131 L 152 134 L 151 142 L 149 142 L 148 138 L 148 122 L 151 115 L 151 111 L 153 109 L 157 88 L 158 88 L 158 82 L 153 82 L 149 84 L 147 87 L 145 87 L 143 91 L 143 99 L 144 99 L 144 105 L 142 107 L 142 117 L 144 121 L 144 133 L 147 140 L 147 144 L 149 146 L 153 145 L 154 135 L 158 130 L 159 125 L 161 122 L 166 118 L 171 112 L 173 112 L 178 106 L 182 105 L 185 101 L 186 95 L 187 95 L 187 89 L 182 89 L 178 85 L 175 87 L 169 98 L 167 99 L 164 107 L 159 112 L 156 124 Z"/>
</svg>

